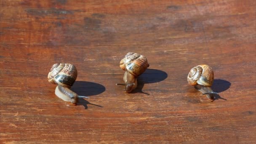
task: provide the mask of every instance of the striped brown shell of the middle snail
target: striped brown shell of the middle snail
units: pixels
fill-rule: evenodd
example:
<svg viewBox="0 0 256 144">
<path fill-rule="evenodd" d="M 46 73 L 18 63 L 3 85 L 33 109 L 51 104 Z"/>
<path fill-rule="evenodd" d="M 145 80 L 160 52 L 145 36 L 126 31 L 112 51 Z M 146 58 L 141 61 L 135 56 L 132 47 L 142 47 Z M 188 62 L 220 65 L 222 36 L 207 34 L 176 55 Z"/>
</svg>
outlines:
<svg viewBox="0 0 256 144">
<path fill-rule="evenodd" d="M 120 68 L 127 70 L 132 75 L 138 77 L 149 67 L 147 58 L 138 53 L 129 52 L 120 61 Z"/>
</svg>

